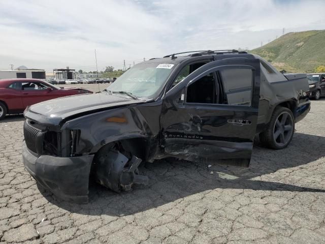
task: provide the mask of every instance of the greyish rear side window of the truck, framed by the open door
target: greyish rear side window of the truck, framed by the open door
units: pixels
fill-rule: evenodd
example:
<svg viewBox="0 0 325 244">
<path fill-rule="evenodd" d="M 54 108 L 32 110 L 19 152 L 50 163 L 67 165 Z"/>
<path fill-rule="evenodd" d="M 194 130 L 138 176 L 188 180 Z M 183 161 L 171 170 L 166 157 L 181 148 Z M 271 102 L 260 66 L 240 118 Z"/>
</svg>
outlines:
<svg viewBox="0 0 325 244">
<path fill-rule="evenodd" d="M 229 105 L 251 106 L 253 72 L 249 69 L 220 71 L 224 94 Z"/>
</svg>

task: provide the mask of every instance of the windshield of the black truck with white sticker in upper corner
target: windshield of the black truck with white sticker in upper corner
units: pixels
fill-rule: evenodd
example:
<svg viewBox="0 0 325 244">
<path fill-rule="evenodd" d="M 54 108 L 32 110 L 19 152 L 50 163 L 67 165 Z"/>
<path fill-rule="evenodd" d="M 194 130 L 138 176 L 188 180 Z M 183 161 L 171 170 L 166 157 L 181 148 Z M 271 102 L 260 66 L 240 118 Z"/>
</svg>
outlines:
<svg viewBox="0 0 325 244">
<path fill-rule="evenodd" d="M 155 98 L 176 65 L 141 63 L 127 70 L 107 90 L 127 92 L 140 98 Z"/>
</svg>

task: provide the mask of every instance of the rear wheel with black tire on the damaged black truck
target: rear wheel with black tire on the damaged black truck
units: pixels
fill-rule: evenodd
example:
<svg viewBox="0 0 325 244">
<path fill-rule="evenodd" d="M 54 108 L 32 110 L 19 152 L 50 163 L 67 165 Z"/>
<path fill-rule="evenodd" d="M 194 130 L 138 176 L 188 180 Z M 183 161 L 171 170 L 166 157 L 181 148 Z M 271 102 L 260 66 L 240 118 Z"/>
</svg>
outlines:
<svg viewBox="0 0 325 244">
<path fill-rule="evenodd" d="M 259 134 L 262 144 L 272 149 L 285 148 L 295 132 L 295 117 L 290 109 L 277 107 L 266 130 Z"/>
</svg>

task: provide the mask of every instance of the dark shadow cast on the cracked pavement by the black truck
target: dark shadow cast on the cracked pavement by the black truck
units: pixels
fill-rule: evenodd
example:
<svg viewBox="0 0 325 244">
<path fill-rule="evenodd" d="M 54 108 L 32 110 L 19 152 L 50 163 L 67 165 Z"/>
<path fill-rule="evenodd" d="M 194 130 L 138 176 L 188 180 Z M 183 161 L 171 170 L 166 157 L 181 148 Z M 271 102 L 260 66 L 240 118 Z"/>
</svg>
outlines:
<svg viewBox="0 0 325 244">
<path fill-rule="evenodd" d="M 318 189 L 317 182 L 310 183 L 312 180 L 300 181 L 301 186 L 292 184 L 297 182 L 297 178 L 308 179 L 313 176 L 311 168 L 316 170 L 319 162 L 314 161 L 325 156 L 325 151 L 319 150 L 324 146 L 325 137 L 301 133 L 295 133 L 291 144 L 282 150 L 266 149 L 257 144 L 249 168 L 222 167 L 217 164 L 208 167 L 205 163 L 158 160 L 140 168 L 140 172 L 149 176 L 149 186 L 137 186 L 131 192 L 115 193 L 91 183 L 88 204 L 65 202 L 41 187 L 39 189 L 50 202 L 71 212 L 109 216 L 132 215 L 215 189 L 324 193 L 325 189 Z M 298 166 L 296 169 L 303 171 L 301 177 L 292 173 L 295 171 L 293 168 Z"/>
</svg>

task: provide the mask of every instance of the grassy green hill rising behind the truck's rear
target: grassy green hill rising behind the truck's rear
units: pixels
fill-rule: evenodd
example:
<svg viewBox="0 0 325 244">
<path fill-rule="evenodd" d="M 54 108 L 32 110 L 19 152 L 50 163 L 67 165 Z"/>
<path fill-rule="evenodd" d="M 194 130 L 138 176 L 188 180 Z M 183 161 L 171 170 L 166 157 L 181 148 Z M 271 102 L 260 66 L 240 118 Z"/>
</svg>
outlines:
<svg viewBox="0 0 325 244">
<path fill-rule="evenodd" d="M 314 72 L 325 65 L 325 30 L 291 32 L 249 51 L 287 72 Z"/>
</svg>

